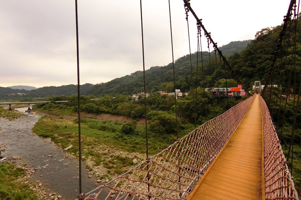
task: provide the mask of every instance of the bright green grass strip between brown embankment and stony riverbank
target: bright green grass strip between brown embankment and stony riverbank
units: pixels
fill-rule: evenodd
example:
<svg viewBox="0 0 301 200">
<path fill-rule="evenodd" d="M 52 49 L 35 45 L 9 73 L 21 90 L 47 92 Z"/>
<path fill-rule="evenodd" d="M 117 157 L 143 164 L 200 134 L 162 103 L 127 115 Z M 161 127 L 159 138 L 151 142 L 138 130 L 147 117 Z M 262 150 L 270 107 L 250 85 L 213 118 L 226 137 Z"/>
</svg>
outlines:
<svg viewBox="0 0 301 200">
<path fill-rule="evenodd" d="M 131 124 L 132 126 L 133 122 L 126 124 Z M 81 134 L 83 137 L 83 148 L 89 146 L 89 149 L 93 149 L 96 148 L 97 145 L 109 145 L 112 148 L 121 148 L 126 152 L 145 153 L 145 126 L 136 125 L 134 132 L 122 133 L 123 127 L 126 124 L 118 121 L 113 122 L 82 119 Z M 191 129 L 193 129 L 193 127 L 189 124 L 182 127 L 183 129 L 180 133 L 182 136 L 186 135 L 191 131 Z M 33 131 L 39 136 L 51 138 L 55 143 L 60 144 L 62 148 L 66 148 L 69 145 L 78 146 L 78 127 L 76 122 L 52 116 L 43 116 L 35 124 Z M 149 152 L 151 152 L 151 154 L 155 154 L 158 152 L 158 148 L 166 148 L 175 140 L 176 135 L 163 132 L 160 132 L 159 134 L 156 132 L 150 132 Z M 77 148 L 71 148 L 68 151 L 76 154 Z"/>
</svg>

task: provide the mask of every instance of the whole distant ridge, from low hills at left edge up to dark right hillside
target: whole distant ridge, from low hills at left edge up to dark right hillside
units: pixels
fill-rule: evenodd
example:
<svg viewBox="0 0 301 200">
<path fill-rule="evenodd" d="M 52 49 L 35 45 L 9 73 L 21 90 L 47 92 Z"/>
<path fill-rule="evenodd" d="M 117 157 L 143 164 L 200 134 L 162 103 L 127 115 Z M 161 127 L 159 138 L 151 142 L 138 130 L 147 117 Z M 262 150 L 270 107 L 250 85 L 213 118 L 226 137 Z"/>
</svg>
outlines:
<svg viewBox="0 0 301 200">
<path fill-rule="evenodd" d="M 240 52 L 252 40 L 244 41 L 234 41 L 230 42 L 227 45 L 219 47 L 224 56 L 230 56 L 234 53 Z M 204 73 L 207 74 L 205 79 L 209 78 L 210 68 L 209 68 L 209 52 L 203 53 L 203 63 L 204 63 Z M 211 52 L 212 53 L 212 52 Z M 201 69 L 201 60 L 199 52 L 198 67 Z M 214 52 L 211 54 L 211 60 L 213 61 Z M 197 63 L 197 52 L 191 54 L 192 68 L 196 69 Z M 146 74 L 146 89 L 148 92 L 156 91 L 172 91 L 173 89 L 173 72 L 172 72 L 172 63 L 169 63 L 166 66 L 154 66 L 145 71 Z M 200 73 L 199 73 L 200 74 Z M 175 61 L 175 76 L 176 76 L 176 89 L 181 89 L 181 91 L 189 90 L 191 85 L 191 69 L 190 69 L 190 56 L 184 55 L 181 58 L 178 58 Z M 206 81 L 208 82 L 208 81 Z M 18 88 L 21 89 L 18 89 Z M 61 96 L 61 95 L 76 95 L 77 86 L 76 85 L 63 85 L 63 86 L 50 86 L 50 87 L 41 87 L 35 88 L 32 86 L 11 86 L 11 87 L 1 87 L 0 86 L 0 98 L 14 98 L 18 95 L 12 95 L 17 93 L 24 93 L 22 97 L 49 97 L 49 96 Z M 32 87 L 32 88 L 29 88 Z M 209 87 L 209 85 L 206 85 Z M 14 89 L 13 89 L 14 88 Z M 132 95 L 137 92 L 143 91 L 143 72 L 136 71 L 130 75 L 124 77 L 113 79 L 107 83 L 99 83 L 92 85 L 86 83 L 81 85 L 81 95 L 116 95 L 116 94 L 127 94 Z"/>
</svg>

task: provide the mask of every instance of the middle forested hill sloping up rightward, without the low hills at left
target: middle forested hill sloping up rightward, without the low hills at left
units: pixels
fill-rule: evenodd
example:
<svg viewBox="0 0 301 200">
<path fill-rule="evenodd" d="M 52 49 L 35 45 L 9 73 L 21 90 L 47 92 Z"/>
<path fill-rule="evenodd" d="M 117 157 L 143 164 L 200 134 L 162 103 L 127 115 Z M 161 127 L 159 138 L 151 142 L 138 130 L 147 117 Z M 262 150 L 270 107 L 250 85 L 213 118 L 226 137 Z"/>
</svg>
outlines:
<svg viewBox="0 0 301 200">
<path fill-rule="evenodd" d="M 225 52 L 225 55 L 232 55 L 234 52 L 240 52 L 244 49 L 250 40 L 244 41 L 235 41 L 230 42 L 227 45 L 223 45 L 221 49 Z M 214 52 L 210 52 L 212 62 L 215 61 Z M 209 68 L 209 52 L 197 52 L 191 54 L 191 62 L 194 73 L 198 67 L 198 74 L 201 75 L 202 69 L 202 60 L 204 65 L 204 75 L 206 76 L 206 87 L 209 87 L 211 81 L 210 77 L 210 68 Z M 198 64 L 197 64 L 198 58 Z M 217 58 L 219 60 L 219 58 Z M 198 66 L 197 66 L 198 65 Z M 214 64 L 215 66 L 215 64 Z M 212 70 L 216 67 L 212 66 Z M 214 73 L 215 74 L 215 73 Z M 195 75 L 194 75 L 195 76 Z M 175 77 L 176 77 L 176 89 L 181 89 L 181 91 L 190 90 L 191 88 L 191 68 L 190 68 L 190 56 L 185 55 L 181 58 L 175 60 Z M 172 92 L 173 90 L 173 70 L 172 63 L 169 63 L 164 67 L 151 67 L 149 70 L 145 71 L 146 78 L 146 90 L 147 92 L 157 92 L 157 91 L 167 91 Z M 199 82 L 195 79 L 194 85 L 200 85 Z M 210 84 L 209 84 L 210 82 Z M 100 83 L 94 85 L 87 93 L 90 95 L 115 95 L 115 94 L 134 94 L 143 91 L 143 72 L 136 71 L 130 75 L 116 78 L 107 83 Z"/>
</svg>

